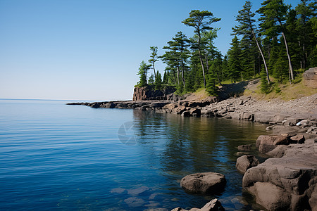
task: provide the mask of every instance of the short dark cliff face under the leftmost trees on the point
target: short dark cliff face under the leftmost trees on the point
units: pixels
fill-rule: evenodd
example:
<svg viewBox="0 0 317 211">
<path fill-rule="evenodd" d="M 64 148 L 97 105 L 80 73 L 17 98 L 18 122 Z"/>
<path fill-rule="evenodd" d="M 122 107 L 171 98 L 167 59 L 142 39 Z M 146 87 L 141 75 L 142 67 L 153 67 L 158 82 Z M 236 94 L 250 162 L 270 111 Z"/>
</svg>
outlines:
<svg viewBox="0 0 317 211">
<path fill-rule="evenodd" d="M 135 87 L 133 92 L 133 101 L 162 101 L 173 100 L 174 87 L 166 87 L 163 90 L 154 90 L 154 87 Z"/>
</svg>

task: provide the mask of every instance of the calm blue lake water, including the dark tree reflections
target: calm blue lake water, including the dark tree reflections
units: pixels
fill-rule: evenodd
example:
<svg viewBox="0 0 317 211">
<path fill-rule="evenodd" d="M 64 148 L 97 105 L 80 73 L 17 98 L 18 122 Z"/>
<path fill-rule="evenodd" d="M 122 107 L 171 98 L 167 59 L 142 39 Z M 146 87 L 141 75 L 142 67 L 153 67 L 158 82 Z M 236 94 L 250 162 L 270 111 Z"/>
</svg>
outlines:
<svg viewBox="0 0 317 211">
<path fill-rule="evenodd" d="M 0 100 L 0 210 L 250 209 L 236 147 L 265 125 L 65 103 Z M 225 191 L 185 193 L 195 172 L 225 174 Z"/>
</svg>

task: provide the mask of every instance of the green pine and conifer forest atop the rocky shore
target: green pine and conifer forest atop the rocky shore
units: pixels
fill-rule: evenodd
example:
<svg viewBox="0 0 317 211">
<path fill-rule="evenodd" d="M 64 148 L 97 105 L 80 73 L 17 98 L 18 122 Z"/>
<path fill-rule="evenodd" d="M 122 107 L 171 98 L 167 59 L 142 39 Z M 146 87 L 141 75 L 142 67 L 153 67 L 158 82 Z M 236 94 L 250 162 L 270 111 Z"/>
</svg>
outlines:
<svg viewBox="0 0 317 211">
<path fill-rule="evenodd" d="M 276 84 L 296 82 L 304 70 L 317 66 L 316 6 L 310 0 L 301 0 L 294 8 L 282 0 L 266 0 L 254 12 L 251 1 L 246 1 L 235 16 L 234 37 L 224 56 L 213 42 L 220 30 L 213 23 L 221 19 L 210 11 L 191 11 L 182 23 L 192 27 L 194 36 L 178 32 L 161 56 L 157 46 L 151 46 L 148 63 L 142 61 L 137 72 L 137 87 L 171 85 L 178 94 L 205 88 L 216 96 L 217 86 L 224 82 L 261 77 L 265 93 Z M 155 68 L 158 60 L 166 64 L 163 77 Z"/>
</svg>

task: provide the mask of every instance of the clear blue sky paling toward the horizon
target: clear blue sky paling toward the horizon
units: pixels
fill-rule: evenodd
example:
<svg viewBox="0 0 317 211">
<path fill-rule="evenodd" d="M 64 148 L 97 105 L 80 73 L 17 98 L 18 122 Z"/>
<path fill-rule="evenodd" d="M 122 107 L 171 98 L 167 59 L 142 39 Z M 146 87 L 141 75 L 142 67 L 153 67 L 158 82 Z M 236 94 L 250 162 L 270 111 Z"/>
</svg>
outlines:
<svg viewBox="0 0 317 211">
<path fill-rule="evenodd" d="M 127 100 L 149 46 L 159 54 L 193 9 L 222 18 L 215 45 L 230 48 L 244 0 L 0 0 L 0 98 Z M 252 1 L 254 11 L 262 1 Z M 299 0 L 285 1 L 296 6 Z M 163 74 L 165 65 L 158 63 Z"/>
</svg>

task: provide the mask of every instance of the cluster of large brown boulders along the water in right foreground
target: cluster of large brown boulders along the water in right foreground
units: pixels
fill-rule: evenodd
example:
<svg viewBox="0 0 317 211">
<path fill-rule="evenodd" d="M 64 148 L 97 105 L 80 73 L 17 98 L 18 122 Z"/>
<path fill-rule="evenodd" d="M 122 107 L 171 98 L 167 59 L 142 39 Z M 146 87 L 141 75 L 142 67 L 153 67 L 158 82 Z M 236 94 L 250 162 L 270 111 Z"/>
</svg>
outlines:
<svg viewBox="0 0 317 211">
<path fill-rule="evenodd" d="M 242 186 L 267 210 L 317 210 L 317 139 L 306 136 L 312 139 L 305 141 L 303 134 L 259 136 L 259 151 L 273 158 L 261 164 L 254 155 L 237 159 Z"/>
</svg>

